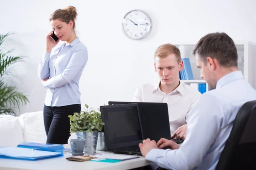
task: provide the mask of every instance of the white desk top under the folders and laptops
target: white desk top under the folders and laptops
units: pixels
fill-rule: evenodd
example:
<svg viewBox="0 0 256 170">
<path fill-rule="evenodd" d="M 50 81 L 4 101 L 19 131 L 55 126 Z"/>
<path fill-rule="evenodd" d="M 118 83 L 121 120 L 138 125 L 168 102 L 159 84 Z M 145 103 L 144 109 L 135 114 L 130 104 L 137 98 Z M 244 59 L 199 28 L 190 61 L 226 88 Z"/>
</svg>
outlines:
<svg viewBox="0 0 256 170">
<path fill-rule="evenodd" d="M 143 156 L 140 156 L 140 158 L 137 159 L 130 159 L 117 163 L 95 161 L 69 161 L 66 158 L 70 156 L 72 156 L 71 153 L 64 153 L 64 156 L 61 157 L 43 159 L 38 161 L 0 159 L 0 170 L 127 170 L 151 164 L 151 162 L 146 161 Z"/>
</svg>

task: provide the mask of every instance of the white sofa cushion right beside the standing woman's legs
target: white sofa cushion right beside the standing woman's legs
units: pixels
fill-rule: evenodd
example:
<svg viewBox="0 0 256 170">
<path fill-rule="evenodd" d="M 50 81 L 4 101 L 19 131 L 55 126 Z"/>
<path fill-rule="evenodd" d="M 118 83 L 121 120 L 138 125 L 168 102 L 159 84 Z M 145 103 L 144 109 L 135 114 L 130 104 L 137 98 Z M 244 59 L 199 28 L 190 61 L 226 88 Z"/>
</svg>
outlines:
<svg viewBox="0 0 256 170">
<path fill-rule="evenodd" d="M 46 143 L 43 111 L 23 113 L 19 116 L 24 142 Z"/>
</svg>

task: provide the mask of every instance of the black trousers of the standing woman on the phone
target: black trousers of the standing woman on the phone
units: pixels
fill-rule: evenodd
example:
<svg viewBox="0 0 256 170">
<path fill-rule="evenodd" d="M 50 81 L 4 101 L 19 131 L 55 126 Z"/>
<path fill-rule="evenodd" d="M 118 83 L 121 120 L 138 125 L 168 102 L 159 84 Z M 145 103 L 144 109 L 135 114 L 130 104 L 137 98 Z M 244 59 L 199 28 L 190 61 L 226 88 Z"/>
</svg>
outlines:
<svg viewBox="0 0 256 170">
<path fill-rule="evenodd" d="M 44 128 L 46 143 L 67 144 L 70 137 L 70 119 L 68 115 L 80 113 L 81 105 L 50 107 L 44 105 Z"/>
</svg>

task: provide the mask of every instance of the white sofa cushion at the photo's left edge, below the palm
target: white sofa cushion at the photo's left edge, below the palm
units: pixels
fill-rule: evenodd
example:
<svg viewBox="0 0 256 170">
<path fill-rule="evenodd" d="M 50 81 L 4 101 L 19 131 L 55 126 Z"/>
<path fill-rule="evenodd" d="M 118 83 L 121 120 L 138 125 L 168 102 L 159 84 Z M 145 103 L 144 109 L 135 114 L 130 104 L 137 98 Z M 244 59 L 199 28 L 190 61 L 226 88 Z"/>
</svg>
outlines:
<svg viewBox="0 0 256 170">
<path fill-rule="evenodd" d="M 23 142 L 22 128 L 18 117 L 0 115 L 0 146 L 15 147 Z"/>
</svg>

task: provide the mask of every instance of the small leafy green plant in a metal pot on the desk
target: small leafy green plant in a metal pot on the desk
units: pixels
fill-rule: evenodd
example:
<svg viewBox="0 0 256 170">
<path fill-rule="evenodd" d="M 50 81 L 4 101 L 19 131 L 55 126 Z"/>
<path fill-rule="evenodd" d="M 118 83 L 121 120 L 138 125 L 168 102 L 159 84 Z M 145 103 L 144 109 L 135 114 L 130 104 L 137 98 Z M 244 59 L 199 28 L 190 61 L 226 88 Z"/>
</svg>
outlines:
<svg viewBox="0 0 256 170">
<path fill-rule="evenodd" d="M 101 113 L 93 109 L 88 109 L 80 113 L 69 115 L 70 133 L 76 133 L 77 139 L 85 139 L 85 153 L 96 153 L 96 145 L 99 132 L 102 132 L 104 123 L 102 122 Z"/>
</svg>

